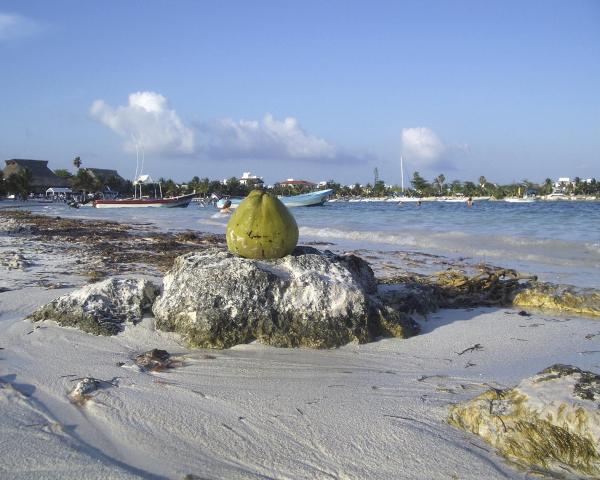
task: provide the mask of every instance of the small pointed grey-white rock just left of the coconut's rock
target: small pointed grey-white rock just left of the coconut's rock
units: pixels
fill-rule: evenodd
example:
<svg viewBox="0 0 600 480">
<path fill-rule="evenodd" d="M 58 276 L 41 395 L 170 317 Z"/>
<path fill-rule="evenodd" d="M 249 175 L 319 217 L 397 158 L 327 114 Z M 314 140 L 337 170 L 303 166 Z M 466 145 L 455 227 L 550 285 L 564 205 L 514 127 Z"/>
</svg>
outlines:
<svg viewBox="0 0 600 480">
<path fill-rule="evenodd" d="M 109 278 L 63 295 L 29 318 L 55 320 L 62 326 L 96 335 L 114 335 L 123 322 L 140 321 L 157 294 L 157 287 L 148 280 Z"/>
</svg>

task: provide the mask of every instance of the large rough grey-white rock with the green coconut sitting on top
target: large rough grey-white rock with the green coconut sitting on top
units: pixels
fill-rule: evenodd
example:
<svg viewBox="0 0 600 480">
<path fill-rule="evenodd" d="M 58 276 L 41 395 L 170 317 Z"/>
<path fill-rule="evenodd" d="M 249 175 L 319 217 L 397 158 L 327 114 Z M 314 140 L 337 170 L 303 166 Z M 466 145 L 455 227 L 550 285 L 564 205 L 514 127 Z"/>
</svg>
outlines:
<svg viewBox="0 0 600 480">
<path fill-rule="evenodd" d="M 410 318 L 378 299 L 364 260 L 311 247 L 274 260 L 218 249 L 183 255 L 164 277 L 152 309 L 157 328 L 210 348 L 253 340 L 330 348 L 416 332 Z"/>
</svg>

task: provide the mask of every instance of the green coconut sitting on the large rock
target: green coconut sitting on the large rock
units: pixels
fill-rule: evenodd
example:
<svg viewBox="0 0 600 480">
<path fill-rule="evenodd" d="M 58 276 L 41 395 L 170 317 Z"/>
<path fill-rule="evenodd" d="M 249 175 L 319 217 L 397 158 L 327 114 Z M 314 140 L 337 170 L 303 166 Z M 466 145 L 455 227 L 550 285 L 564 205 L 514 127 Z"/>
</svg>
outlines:
<svg viewBox="0 0 600 480">
<path fill-rule="evenodd" d="M 252 190 L 227 223 L 227 248 L 245 258 L 281 258 L 298 243 L 298 225 L 277 197 Z"/>
</svg>

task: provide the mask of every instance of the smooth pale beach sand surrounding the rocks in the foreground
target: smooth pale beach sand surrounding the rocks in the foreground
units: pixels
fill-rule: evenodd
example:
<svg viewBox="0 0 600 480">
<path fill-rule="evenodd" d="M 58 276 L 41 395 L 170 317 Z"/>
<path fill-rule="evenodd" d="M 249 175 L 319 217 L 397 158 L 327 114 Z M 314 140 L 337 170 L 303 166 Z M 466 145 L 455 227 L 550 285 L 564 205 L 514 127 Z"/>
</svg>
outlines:
<svg viewBox="0 0 600 480">
<path fill-rule="evenodd" d="M 0 254 L 16 248 L 1 242 Z M 152 319 L 116 337 L 35 328 L 23 319 L 69 290 L 27 282 L 82 280 L 61 273 L 73 259 L 18 243 L 36 264 L 0 267 L 0 287 L 15 288 L 0 293 L 2 479 L 525 478 L 447 425 L 447 406 L 553 363 L 600 370 L 600 335 L 585 338 L 600 322 L 505 309 L 442 311 L 417 337 L 329 351 L 187 350 Z M 140 372 L 131 358 L 151 348 L 183 366 Z M 84 376 L 115 386 L 75 406 L 67 393 Z"/>
</svg>

